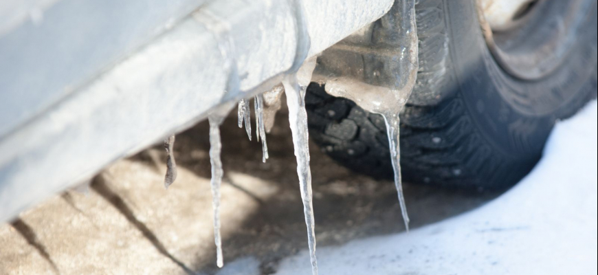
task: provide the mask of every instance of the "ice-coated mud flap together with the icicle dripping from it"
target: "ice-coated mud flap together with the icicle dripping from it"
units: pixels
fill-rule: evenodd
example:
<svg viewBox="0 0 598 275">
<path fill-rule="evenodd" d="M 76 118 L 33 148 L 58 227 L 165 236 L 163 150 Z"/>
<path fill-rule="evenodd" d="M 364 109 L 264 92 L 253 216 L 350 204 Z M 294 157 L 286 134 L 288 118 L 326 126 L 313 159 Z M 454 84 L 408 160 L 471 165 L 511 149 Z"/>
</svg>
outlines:
<svg viewBox="0 0 598 275">
<path fill-rule="evenodd" d="M 395 1 L 371 33 L 357 33 L 355 37 L 326 50 L 314 78 L 319 83 L 325 83 L 328 94 L 348 98 L 366 111 L 384 116 L 406 230 L 409 230 L 409 217 L 401 182 L 399 113 L 417 80 L 416 2 Z M 355 46 L 350 41 L 362 42 Z"/>
</svg>

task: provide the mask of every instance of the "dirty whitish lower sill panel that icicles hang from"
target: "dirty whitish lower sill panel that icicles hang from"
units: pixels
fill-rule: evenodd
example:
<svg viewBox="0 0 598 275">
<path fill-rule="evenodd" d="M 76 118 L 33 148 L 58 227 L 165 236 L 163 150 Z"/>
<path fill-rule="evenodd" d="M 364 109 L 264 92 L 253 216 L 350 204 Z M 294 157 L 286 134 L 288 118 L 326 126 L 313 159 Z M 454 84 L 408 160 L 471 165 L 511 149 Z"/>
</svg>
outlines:
<svg viewBox="0 0 598 275">
<path fill-rule="evenodd" d="M 309 56 L 375 21 L 392 2 L 303 1 Z M 0 221 L 191 126 L 218 104 L 264 91 L 257 88 L 264 81 L 278 84 L 276 78 L 296 55 L 292 3 L 210 3 L 2 137 Z M 231 72 L 223 64 L 228 58 L 221 34 L 206 21 L 228 30 L 225 39 L 235 46 L 241 90 L 225 92 Z"/>
</svg>

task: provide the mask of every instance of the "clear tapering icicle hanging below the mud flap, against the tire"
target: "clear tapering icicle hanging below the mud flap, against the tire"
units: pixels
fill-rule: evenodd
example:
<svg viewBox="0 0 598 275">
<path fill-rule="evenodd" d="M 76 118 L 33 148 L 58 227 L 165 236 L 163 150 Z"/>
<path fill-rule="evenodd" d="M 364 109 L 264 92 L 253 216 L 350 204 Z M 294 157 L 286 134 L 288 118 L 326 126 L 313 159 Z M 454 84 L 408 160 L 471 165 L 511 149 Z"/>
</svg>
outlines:
<svg viewBox="0 0 598 275">
<path fill-rule="evenodd" d="M 401 146 L 399 144 L 399 131 L 401 129 L 400 119 L 398 114 L 386 114 L 382 116 L 384 117 L 384 122 L 386 122 L 390 159 L 392 162 L 392 170 L 395 172 L 395 187 L 397 188 L 397 194 L 399 195 L 401 214 L 403 215 L 405 228 L 409 231 L 409 214 L 407 213 L 407 206 L 403 195 L 403 181 L 401 179 Z"/>
</svg>

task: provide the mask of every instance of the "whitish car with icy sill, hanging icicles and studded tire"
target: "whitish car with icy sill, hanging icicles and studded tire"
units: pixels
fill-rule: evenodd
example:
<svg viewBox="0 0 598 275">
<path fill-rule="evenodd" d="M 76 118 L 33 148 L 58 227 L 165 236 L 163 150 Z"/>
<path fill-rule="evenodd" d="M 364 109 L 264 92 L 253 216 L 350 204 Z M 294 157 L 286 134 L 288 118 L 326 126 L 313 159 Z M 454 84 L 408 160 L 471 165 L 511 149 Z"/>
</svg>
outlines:
<svg viewBox="0 0 598 275">
<path fill-rule="evenodd" d="M 309 137 L 394 178 L 408 228 L 403 179 L 509 188 L 597 97 L 596 0 L 10 0 L 0 17 L 0 221 L 201 120 L 217 206 L 219 124 L 255 98 L 265 161 L 284 91 L 314 272 Z"/>
</svg>

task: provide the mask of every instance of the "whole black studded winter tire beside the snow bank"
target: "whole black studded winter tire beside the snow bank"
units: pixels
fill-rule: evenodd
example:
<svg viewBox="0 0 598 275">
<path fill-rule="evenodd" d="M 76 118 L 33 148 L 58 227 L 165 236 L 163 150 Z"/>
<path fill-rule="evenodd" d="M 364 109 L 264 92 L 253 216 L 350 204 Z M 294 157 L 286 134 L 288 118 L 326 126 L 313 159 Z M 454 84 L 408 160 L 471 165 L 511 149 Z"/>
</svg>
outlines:
<svg viewBox="0 0 598 275">
<path fill-rule="evenodd" d="M 417 3 L 419 72 L 401 117 L 403 179 L 480 189 L 515 184 L 538 162 L 555 122 L 597 97 L 596 4 L 549 76 L 513 78 L 494 61 L 471 0 Z M 386 126 L 312 83 L 312 140 L 359 173 L 392 178 Z"/>
</svg>

